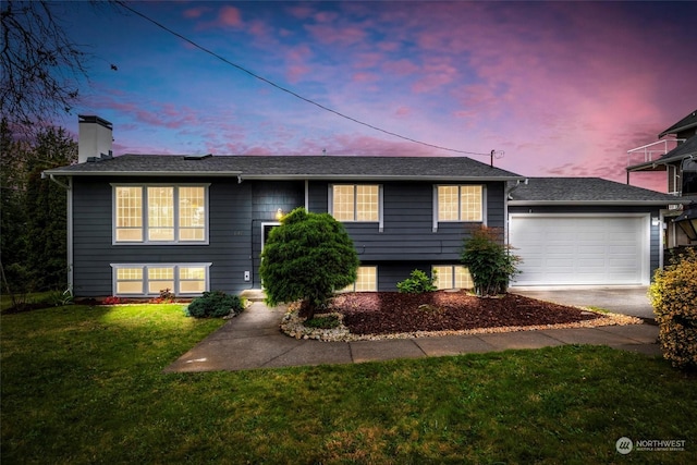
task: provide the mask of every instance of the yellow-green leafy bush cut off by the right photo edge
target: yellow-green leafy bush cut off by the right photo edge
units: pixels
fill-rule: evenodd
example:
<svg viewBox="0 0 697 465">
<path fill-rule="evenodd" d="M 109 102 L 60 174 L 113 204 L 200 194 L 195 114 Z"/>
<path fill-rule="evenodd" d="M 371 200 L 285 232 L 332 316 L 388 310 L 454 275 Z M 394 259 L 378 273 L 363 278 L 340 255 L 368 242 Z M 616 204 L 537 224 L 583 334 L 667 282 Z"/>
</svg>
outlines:
<svg viewBox="0 0 697 465">
<path fill-rule="evenodd" d="M 697 369 L 697 253 L 687 249 L 649 287 L 663 357 L 674 367 Z"/>
</svg>

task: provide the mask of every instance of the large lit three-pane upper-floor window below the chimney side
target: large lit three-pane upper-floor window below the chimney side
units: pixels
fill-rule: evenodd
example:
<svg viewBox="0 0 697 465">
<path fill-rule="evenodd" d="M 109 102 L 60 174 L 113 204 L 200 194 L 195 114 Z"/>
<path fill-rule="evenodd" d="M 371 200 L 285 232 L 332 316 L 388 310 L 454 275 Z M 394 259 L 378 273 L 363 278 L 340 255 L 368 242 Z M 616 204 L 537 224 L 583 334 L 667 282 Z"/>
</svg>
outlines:
<svg viewBox="0 0 697 465">
<path fill-rule="evenodd" d="M 114 185 L 114 243 L 207 243 L 208 185 Z"/>
</svg>

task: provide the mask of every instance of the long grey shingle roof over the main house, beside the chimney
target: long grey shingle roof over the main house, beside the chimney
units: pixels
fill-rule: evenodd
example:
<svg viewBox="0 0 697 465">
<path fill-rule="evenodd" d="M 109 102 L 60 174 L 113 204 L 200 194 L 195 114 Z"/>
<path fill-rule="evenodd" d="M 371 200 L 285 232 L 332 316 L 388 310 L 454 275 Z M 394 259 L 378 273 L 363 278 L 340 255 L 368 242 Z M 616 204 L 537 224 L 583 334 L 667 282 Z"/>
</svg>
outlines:
<svg viewBox="0 0 697 465">
<path fill-rule="evenodd" d="M 123 155 L 47 170 L 46 174 L 188 175 L 266 179 L 508 181 L 523 176 L 467 157 Z"/>
</svg>

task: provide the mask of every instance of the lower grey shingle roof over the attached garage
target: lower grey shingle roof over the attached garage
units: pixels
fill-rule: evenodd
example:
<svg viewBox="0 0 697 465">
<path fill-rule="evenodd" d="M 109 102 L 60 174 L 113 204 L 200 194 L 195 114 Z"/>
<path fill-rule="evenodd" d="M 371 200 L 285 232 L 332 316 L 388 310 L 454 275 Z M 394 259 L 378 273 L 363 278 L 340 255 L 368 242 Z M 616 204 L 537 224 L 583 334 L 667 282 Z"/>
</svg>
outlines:
<svg viewBox="0 0 697 465">
<path fill-rule="evenodd" d="M 683 204 L 674 195 L 600 178 L 529 178 L 509 182 L 509 205 L 669 205 Z"/>
</svg>

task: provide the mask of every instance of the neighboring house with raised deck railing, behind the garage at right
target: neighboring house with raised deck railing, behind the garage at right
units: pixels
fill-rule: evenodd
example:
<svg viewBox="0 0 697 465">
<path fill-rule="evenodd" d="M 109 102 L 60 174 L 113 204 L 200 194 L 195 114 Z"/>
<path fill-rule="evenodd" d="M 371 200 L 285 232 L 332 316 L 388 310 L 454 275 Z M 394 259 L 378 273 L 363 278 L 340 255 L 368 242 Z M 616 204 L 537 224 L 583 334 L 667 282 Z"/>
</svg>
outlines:
<svg viewBox="0 0 697 465">
<path fill-rule="evenodd" d="M 627 151 L 631 157 L 639 155 L 644 158 L 641 162 L 626 168 L 627 184 L 634 172 L 665 172 L 668 192 L 680 197 L 680 201 L 672 203 L 673 208 L 664 212 L 665 246 L 690 245 L 695 241 L 690 242 L 672 219 L 683 212 L 681 204 L 697 201 L 697 110 L 661 132 L 658 138 L 655 143 Z M 670 149 L 673 145 L 675 147 Z"/>
</svg>

